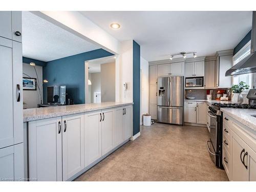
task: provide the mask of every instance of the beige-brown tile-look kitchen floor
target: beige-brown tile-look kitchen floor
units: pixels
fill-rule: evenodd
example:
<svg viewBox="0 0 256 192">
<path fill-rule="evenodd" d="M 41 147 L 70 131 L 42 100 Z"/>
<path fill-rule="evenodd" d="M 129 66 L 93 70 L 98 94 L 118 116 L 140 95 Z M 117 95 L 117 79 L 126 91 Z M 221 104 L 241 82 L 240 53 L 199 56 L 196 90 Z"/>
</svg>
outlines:
<svg viewBox="0 0 256 192">
<path fill-rule="evenodd" d="M 211 161 L 206 127 L 155 123 L 75 181 L 228 181 Z"/>
</svg>

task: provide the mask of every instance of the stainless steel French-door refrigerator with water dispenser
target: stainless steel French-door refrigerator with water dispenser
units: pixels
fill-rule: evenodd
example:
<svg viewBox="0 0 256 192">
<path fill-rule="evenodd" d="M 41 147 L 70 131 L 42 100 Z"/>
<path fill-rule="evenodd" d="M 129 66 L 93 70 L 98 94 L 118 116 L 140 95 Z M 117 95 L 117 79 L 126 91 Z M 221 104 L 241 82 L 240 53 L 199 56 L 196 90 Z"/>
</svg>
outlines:
<svg viewBox="0 0 256 192">
<path fill-rule="evenodd" d="M 183 83 L 183 76 L 158 78 L 158 122 L 183 125 Z"/>
</svg>

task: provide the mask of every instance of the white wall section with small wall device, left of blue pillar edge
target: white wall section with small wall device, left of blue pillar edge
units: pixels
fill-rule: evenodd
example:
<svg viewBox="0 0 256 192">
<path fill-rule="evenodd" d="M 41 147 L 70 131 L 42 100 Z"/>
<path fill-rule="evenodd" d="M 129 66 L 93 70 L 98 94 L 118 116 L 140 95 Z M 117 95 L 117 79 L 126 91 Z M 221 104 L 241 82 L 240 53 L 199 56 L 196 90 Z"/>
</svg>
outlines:
<svg viewBox="0 0 256 192">
<path fill-rule="evenodd" d="M 120 101 L 133 102 L 133 40 L 121 42 L 120 55 Z M 127 82 L 128 88 L 123 89 L 123 83 Z"/>
</svg>

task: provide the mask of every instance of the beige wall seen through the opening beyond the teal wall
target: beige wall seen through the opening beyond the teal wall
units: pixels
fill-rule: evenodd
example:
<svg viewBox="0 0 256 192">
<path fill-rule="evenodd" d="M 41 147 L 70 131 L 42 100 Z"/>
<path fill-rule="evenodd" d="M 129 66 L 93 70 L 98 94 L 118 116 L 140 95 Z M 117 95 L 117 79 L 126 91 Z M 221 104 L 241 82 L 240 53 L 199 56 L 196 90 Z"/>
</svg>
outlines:
<svg viewBox="0 0 256 192">
<path fill-rule="evenodd" d="M 101 75 L 101 102 L 115 101 L 116 98 L 116 63 L 104 63 L 100 65 Z"/>
</svg>

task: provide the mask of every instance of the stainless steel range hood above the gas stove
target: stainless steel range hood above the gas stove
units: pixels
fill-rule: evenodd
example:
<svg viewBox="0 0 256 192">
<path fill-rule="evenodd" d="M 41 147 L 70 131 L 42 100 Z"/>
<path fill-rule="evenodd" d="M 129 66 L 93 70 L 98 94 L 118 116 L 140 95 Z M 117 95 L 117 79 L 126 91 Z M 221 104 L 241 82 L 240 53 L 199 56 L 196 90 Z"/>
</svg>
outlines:
<svg viewBox="0 0 256 192">
<path fill-rule="evenodd" d="M 252 12 L 251 54 L 226 71 L 226 76 L 256 72 L 256 11 Z"/>
</svg>

